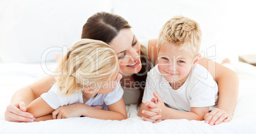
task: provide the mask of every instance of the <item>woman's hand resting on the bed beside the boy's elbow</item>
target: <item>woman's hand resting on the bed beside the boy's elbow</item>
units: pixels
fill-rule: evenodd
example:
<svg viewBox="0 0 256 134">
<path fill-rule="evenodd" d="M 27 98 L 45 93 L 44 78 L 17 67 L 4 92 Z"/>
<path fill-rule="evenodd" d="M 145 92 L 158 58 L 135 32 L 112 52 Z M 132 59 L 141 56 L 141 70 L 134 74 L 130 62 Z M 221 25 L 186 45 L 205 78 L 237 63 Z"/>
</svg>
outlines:
<svg viewBox="0 0 256 134">
<path fill-rule="evenodd" d="M 215 124 L 220 124 L 220 123 L 226 123 L 231 121 L 232 116 L 225 112 L 224 110 L 215 108 L 213 111 L 208 112 L 204 116 L 205 123 L 210 124 L 211 126 Z"/>
</svg>

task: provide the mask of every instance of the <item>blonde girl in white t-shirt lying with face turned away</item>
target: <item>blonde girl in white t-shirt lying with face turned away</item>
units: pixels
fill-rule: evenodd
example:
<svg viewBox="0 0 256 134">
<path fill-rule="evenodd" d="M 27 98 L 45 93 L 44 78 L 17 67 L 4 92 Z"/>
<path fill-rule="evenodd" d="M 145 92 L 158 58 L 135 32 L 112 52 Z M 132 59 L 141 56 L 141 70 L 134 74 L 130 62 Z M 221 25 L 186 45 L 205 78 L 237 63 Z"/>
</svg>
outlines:
<svg viewBox="0 0 256 134">
<path fill-rule="evenodd" d="M 27 111 L 36 117 L 36 121 L 80 116 L 127 119 L 122 98 L 124 91 L 117 86 L 122 75 L 118 72 L 115 51 L 103 41 L 92 39 L 82 39 L 68 50 L 57 67 L 56 83 L 29 104 Z M 77 107 L 70 111 L 72 114 L 54 111 L 70 104 Z M 104 110 L 92 106 L 102 106 Z"/>
</svg>

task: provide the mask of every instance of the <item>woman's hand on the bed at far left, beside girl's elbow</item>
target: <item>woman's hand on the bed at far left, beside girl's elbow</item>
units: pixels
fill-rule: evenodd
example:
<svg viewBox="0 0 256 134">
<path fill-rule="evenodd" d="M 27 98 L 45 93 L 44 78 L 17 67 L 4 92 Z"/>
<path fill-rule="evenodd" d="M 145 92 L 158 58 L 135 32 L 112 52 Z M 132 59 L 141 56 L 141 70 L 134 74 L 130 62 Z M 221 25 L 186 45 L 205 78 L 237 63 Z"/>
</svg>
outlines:
<svg viewBox="0 0 256 134">
<path fill-rule="evenodd" d="M 34 118 L 31 113 L 26 111 L 27 109 L 24 102 L 18 102 L 15 105 L 10 104 L 6 107 L 4 119 L 6 121 L 13 122 L 33 122 L 36 118 Z"/>
</svg>

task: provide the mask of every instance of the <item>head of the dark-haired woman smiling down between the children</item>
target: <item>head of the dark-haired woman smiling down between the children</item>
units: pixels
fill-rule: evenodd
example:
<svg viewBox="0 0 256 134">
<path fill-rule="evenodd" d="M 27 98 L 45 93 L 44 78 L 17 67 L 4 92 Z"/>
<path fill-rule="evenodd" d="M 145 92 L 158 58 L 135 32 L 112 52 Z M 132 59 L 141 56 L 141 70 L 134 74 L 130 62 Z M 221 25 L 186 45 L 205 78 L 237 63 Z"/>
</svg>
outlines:
<svg viewBox="0 0 256 134">
<path fill-rule="evenodd" d="M 141 70 L 141 46 L 124 18 L 106 12 L 92 15 L 83 25 L 82 39 L 97 39 L 109 44 L 117 53 L 124 76 Z"/>
</svg>

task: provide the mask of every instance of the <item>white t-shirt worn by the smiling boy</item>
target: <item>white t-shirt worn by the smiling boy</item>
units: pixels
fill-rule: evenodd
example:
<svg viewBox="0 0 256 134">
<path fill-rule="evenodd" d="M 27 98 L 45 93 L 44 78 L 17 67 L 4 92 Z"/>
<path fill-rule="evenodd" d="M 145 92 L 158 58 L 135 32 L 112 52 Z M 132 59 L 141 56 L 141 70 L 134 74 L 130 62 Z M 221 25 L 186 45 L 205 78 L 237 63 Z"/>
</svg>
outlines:
<svg viewBox="0 0 256 134">
<path fill-rule="evenodd" d="M 218 86 L 211 74 L 197 64 L 178 90 L 160 74 L 158 65 L 148 72 L 143 103 L 151 101 L 153 91 L 158 93 L 167 107 L 179 111 L 190 111 L 191 107 L 210 107 L 218 101 Z"/>
</svg>

